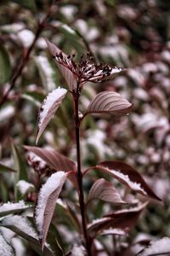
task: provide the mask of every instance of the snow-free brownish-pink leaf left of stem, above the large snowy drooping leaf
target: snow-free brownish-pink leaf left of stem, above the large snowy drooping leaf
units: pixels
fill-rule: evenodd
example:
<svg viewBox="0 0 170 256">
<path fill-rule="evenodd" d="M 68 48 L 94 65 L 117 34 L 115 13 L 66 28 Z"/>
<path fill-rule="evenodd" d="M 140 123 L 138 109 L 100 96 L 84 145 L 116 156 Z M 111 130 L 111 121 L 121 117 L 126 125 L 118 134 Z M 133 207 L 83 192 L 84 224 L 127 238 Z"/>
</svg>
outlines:
<svg viewBox="0 0 170 256">
<path fill-rule="evenodd" d="M 26 150 L 37 154 L 44 160 L 48 166 L 55 171 L 63 170 L 64 172 L 76 171 L 77 165 L 63 154 L 59 154 L 56 149 L 46 149 L 38 147 L 25 146 Z"/>
</svg>

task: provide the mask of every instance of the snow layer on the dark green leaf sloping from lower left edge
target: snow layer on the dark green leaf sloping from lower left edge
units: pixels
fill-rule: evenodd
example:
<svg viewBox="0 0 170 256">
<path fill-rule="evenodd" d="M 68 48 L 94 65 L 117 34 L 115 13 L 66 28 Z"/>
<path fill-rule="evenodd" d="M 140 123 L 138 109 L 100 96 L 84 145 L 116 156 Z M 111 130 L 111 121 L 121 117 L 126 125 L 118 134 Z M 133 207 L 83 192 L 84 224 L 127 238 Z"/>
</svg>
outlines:
<svg viewBox="0 0 170 256">
<path fill-rule="evenodd" d="M 31 223 L 24 216 L 14 215 L 12 217 L 10 216 L 7 218 L 3 218 L 2 224 L 4 226 L 13 225 L 21 231 L 25 232 L 27 235 L 38 239 L 36 231 L 33 229 Z"/>
</svg>

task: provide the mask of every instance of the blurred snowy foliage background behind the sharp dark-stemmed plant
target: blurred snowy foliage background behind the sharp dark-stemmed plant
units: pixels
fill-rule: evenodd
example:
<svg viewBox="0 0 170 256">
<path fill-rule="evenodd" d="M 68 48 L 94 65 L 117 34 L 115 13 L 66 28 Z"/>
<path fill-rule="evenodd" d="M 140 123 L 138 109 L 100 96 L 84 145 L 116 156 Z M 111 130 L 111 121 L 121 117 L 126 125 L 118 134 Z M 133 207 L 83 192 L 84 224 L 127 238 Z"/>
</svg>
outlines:
<svg viewBox="0 0 170 256">
<path fill-rule="evenodd" d="M 170 236 L 170 3 L 63 0 L 54 1 L 51 10 L 50 4 L 45 0 L 0 3 L 1 100 L 22 66 L 0 108 L 0 200 L 16 200 L 14 187 L 20 179 L 35 184 L 22 146 L 35 145 L 37 113 L 44 96 L 59 85 L 66 87 L 48 53 L 44 40 L 48 38 L 65 53 L 76 53 L 76 58 L 90 52 L 95 61 L 127 68 L 116 79 L 88 84 L 82 92 L 82 113 L 101 90 L 116 90 L 133 102 L 128 116 L 88 116 L 83 121 L 82 164 L 94 166 L 114 159 L 136 167 L 165 204 L 147 207 L 131 241 L 144 234 Z M 57 148 L 76 160 L 72 128 L 71 97 L 67 96 L 38 146 Z M 84 185 L 88 190 L 89 180 Z M 63 195 L 71 197 L 70 190 Z M 25 198 L 34 201 L 30 194 Z"/>
</svg>

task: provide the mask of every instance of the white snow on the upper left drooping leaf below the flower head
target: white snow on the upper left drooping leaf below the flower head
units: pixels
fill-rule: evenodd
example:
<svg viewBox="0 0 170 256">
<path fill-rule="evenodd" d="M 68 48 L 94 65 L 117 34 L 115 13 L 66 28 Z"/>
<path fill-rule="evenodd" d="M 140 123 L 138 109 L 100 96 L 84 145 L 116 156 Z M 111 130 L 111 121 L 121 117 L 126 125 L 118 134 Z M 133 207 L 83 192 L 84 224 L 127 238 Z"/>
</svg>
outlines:
<svg viewBox="0 0 170 256">
<path fill-rule="evenodd" d="M 48 114 L 48 110 L 53 106 L 54 102 L 57 102 L 60 97 L 65 96 L 66 92 L 66 89 L 58 87 L 48 94 L 48 96 L 42 102 L 42 111 L 39 115 L 39 126 L 42 125 L 43 120 Z"/>
</svg>

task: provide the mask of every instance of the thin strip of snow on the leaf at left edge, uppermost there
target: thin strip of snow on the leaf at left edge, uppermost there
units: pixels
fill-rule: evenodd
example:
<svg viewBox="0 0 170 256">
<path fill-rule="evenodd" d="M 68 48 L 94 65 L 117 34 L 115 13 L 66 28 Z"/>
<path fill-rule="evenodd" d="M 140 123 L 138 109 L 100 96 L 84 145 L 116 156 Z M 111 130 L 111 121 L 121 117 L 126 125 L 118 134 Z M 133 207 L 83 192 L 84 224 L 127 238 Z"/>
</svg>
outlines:
<svg viewBox="0 0 170 256">
<path fill-rule="evenodd" d="M 31 206 L 26 205 L 25 201 L 19 201 L 16 203 L 7 202 L 0 206 L 0 217 L 5 216 L 14 212 L 21 212 L 30 208 Z"/>
</svg>

